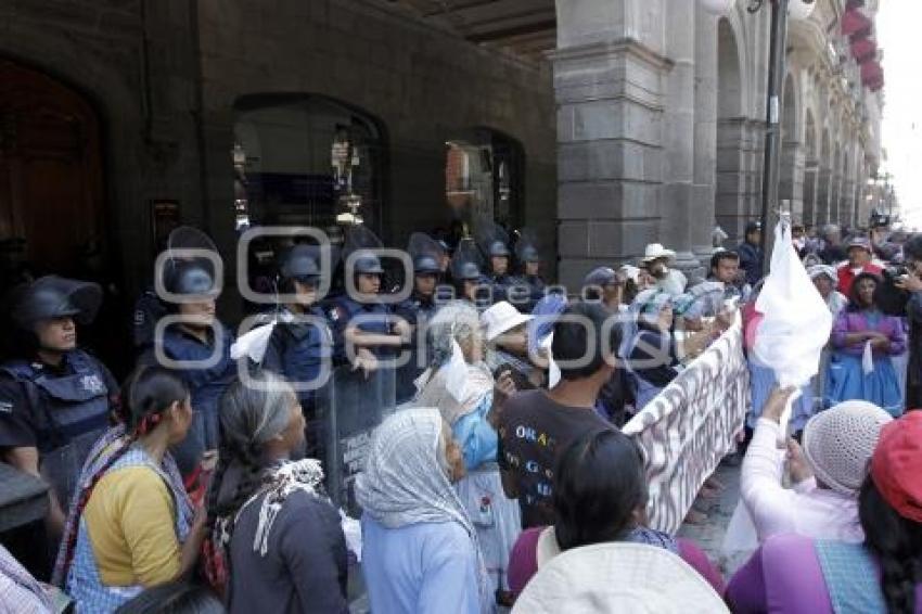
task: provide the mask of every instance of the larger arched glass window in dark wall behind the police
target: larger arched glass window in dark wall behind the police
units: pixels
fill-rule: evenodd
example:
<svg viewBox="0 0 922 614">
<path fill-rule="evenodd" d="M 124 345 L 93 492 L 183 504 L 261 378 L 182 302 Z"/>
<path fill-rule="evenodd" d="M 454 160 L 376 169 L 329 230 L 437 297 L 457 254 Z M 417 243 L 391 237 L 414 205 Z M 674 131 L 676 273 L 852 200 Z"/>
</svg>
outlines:
<svg viewBox="0 0 922 614">
<path fill-rule="evenodd" d="M 337 217 L 348 213 L 344 197 L 354 195 L 366 226 L 381 234 L 385 148 L 371 115 L 313 94 L 249 95 L 235 111 L 239 228 L 312 226 L 335 236 Z"/>
</svg>

